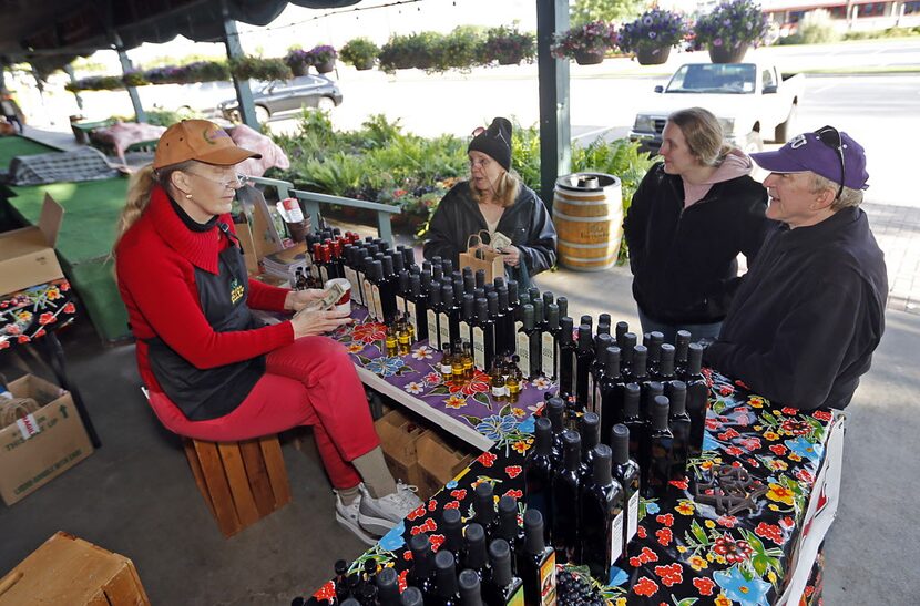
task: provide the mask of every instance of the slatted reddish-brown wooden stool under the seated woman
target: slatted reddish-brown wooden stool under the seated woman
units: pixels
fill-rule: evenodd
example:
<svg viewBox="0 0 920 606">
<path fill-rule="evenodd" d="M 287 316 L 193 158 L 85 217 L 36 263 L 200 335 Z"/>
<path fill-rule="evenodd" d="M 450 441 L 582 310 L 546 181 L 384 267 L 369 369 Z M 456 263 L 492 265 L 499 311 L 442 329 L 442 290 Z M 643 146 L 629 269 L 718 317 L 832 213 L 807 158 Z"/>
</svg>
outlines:
<svg viewBox="0 0 920 606">
<path fill-rule="evenodd" d="M 290 501 L 277 435 L 242 442 L 185 439 L 185 456 L 224 536 L 233 536 Z"/>
</svg>

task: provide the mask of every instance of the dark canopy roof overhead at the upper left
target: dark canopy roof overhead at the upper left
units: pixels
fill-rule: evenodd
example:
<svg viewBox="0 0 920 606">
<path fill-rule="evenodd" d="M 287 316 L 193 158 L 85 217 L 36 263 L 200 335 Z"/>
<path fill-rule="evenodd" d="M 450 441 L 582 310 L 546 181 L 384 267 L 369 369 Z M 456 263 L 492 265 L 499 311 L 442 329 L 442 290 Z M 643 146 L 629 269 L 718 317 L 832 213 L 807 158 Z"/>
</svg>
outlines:
<svg viewBox="0 0 920 606">
<path fill-rule="evenodd" d="M 76 55 L 168 42 L 223 40 L 224 16 L 270 23 L 288 3 L 327 9 L 360 0 L 0 0 L 0 61 L 29 61 L 48 73 Z"/>
</svg>

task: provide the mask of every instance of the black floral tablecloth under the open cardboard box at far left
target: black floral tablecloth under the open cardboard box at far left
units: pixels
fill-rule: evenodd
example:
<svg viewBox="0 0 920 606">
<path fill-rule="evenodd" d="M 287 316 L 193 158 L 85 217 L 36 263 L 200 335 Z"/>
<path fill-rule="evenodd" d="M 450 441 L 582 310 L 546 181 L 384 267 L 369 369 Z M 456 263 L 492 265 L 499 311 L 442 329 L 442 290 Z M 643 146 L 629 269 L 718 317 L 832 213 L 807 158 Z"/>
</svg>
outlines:
<svg viewBox="0 0 920 606">
<path fill-rule="evenodd" d="M 63 278 L 0 296 L 0 350 L 28 343 L 73 321 L 73 290 Z"/>
</svg>

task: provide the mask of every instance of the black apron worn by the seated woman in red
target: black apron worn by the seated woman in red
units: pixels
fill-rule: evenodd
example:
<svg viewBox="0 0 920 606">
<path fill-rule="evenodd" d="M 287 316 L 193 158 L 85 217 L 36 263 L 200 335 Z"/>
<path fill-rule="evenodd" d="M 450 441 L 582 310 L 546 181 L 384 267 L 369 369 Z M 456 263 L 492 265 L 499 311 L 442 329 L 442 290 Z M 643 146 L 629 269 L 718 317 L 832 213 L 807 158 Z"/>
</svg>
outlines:
<svg viewBox="0 0 920 606">
<path fill-rule="evenodd" d="M 249 279 L 238 240 L 226 224 L 218 224 L 232 246 L 218 256 L 217 275 L 195 268 L 198 301 L 215 332 L 259 328 L 246 300 Z M 190 421 L 224 417 L 238 407 L 265 373 L 265 356 L 217 368 L 200 369 L 180 356 L 159 337 L 149 339 L 153 376 Z"/>
</svg>

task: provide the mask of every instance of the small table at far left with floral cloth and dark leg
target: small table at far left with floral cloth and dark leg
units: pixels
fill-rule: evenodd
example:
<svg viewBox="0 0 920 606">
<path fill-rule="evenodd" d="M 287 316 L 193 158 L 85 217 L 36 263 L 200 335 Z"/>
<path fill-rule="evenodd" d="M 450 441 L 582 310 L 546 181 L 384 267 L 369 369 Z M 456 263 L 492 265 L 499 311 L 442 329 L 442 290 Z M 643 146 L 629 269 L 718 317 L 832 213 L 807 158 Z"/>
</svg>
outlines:
<svg viewBox="0 0 920 606">
<path fill-rule="evenodd" d="M 64 350 L 55 332 L 76 316 L 73 289 L 64 279 L 0 295 L 0 351 L 35 345 L 65 390 L 70 391 L 80 419 L 94 448 L 102 443 L 76 386 L 68 377 Z"/>
</svg>

